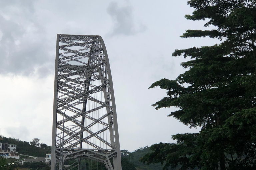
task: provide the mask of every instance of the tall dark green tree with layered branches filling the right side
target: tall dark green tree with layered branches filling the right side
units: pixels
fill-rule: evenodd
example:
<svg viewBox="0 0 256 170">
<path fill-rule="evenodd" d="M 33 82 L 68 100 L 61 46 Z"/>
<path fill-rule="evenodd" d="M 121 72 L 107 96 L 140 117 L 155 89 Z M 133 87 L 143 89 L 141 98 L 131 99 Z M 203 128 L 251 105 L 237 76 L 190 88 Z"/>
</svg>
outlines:
<svg viewBox="0 0 256 170">
<path fill-rule="evenodd" d="M 150 88 L 168 90 L 156 109 L 177 107 L 168 116 L 199 133 L 176 134 L 176 144 L 159 143 L 142 162 L 165 163 L 164 169 L 256 168 L 256 0 L 190 0 L 188 20 L 208 20 L 213 30 L 187 30 L 182 38 L 210 37 L 213 46 L 175 50 L 191 60 L 175 80 L 161 79 Z M 186 85 L 186 86 L 184 86 Z"/>
</svg>

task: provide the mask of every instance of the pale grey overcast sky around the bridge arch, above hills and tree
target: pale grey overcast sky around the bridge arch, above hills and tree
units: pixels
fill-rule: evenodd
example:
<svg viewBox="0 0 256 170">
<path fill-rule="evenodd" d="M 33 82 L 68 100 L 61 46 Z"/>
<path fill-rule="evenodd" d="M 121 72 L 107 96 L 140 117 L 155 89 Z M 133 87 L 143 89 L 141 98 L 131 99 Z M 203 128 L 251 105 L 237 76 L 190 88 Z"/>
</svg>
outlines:
<svg viewBox="0 0 256 170">
<path fill-rule="evenodd" d="M 110 60 L 121 149 L 130 152 L 172 134 L 197 132 L 174 118 L 176 108 L 155 110 L 166 96 L 148 89 L 185 69 L 175 49 L 218 43 L 181 39 L 205 21 L 187 21 L 186 0 L 0 0 L 0 134 L 51 145 L 57 34 L 100 35 Z M 210 28 L 211 29 L 211 28 Z"/>
</svg>

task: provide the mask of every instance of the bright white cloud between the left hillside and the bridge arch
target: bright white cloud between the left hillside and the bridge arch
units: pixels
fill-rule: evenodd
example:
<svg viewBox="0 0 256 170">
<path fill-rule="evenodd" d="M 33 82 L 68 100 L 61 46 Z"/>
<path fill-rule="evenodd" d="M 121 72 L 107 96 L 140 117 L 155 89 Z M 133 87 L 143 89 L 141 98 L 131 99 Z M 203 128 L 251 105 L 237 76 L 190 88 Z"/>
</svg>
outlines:
<svg viewBox="0 0 256 170">
<path fill-rule="evenodd" d="M 0 75 L 4 82 L 0 84 L 0 89 L 4 89 L 0 96 L 1 135 L 22 141 L 39 138 L 43 143 L 51 143 L 53 79 L 51 75 L 40 79 Z"/>
</svg>

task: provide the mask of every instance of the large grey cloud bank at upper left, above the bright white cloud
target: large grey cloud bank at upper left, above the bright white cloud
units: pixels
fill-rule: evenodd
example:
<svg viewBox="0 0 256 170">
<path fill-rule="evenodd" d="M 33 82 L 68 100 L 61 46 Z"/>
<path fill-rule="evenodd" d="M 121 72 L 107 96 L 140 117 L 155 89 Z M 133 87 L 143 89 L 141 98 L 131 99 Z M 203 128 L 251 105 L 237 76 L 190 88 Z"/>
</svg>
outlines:
<svg viewBox="0 0 256 170">
<path fill-rule="evenodd" d="M 45 76 L 54 63 L 49 62 L 44 27 L 37 21 L 34 1 L 21 2 L 4 1 L 0 7 L 0 74 Z"/>
</svg>

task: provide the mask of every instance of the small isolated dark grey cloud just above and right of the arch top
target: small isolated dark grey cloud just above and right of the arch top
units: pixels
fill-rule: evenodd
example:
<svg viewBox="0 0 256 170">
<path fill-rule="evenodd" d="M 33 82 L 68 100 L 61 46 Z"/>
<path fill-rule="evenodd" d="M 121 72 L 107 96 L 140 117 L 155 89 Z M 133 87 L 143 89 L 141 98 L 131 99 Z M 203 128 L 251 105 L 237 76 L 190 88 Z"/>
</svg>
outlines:
<svg viewBox="0 0 256 170">
<path fill-rule="evenodd" d="M 142 23 L 135 24 L 131 6 L 119 7 L 117 2 L 111 2 L 107 8 L 107 13 L 114 22 L 114 28 L 110 32 L 110 36 L 130 36 L 146 31 L 146 26 Z"/>
</svg>

